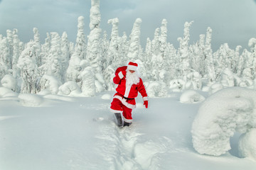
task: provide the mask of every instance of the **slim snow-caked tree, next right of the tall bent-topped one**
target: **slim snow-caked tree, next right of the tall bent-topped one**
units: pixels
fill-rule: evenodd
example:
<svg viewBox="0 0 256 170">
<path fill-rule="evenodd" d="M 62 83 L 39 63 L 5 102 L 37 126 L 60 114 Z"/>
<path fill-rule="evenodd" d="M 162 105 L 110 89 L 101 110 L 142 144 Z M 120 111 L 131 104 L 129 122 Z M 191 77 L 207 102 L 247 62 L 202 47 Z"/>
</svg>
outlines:
<svg viewBox="0 0 256 170">
<path fill-rule="evenodd" d="M 213 50 L 211 49 L 211 39 L 212 39 L 213 30 L 208 27 L 206 32 L 206 45 L 203 53 L 206 57 L 206 72 L 208 74 L 208 80 L 210 82 L 215 81 L 216 73 L 214 69 L 214 61 L 213 61 Z"/>
</svg>

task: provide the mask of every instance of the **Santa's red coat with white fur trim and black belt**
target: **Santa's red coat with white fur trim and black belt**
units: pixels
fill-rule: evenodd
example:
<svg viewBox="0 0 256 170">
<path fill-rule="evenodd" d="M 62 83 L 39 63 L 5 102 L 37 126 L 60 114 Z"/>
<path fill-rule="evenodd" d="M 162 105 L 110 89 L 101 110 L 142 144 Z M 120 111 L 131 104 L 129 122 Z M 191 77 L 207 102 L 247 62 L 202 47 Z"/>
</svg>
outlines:
<svg viewBox="0 0 256 170">
<path fill-rule="evenodd" d="M 139 78 L 138 84 L 132 84 L 132 86 L 127 86 L 126 79 L 122 74 L 122 71 L 126 71 L 127 66 L 119 67 L 115 72 L 115 77 L 113 79 L 114 84 L 118 84 L 117 86 L 117 94 L 114 95 L 114 98 L 118 98 L 122 103 L 128 108 L 135 108 L 135 100 L 138 96 L 138 92 L 142 95 L 144 101 L 147 101 L 146 89 L 144 87 L 143 81 Z M 128 98 L 128 99 L 126 99 Z"/>
</svg>

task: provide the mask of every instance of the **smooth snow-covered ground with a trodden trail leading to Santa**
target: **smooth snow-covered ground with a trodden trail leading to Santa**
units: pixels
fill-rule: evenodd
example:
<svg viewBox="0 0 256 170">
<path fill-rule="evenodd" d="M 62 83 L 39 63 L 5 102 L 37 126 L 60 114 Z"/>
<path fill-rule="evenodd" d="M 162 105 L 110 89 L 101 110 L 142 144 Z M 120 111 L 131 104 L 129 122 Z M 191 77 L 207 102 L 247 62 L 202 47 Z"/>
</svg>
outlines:
<svg viewBox="0 0 256 170">
<path fill-rule="evenodd" d="M 113 94 L 1 97 L 0 169 L 255 169 L 254 160 L 238 156 L 238 132 L 230 138 L 230 152 L 219 157 L 193 148 L 198 98 L 208 94 L 200 92 L 194 103 L 186 96 L 180 102 L 181 93 L 149 98 L 148 109 L 138 97 L 134 122 L 126 128 L 117 128 L 109 111 Z"/>
</svg>

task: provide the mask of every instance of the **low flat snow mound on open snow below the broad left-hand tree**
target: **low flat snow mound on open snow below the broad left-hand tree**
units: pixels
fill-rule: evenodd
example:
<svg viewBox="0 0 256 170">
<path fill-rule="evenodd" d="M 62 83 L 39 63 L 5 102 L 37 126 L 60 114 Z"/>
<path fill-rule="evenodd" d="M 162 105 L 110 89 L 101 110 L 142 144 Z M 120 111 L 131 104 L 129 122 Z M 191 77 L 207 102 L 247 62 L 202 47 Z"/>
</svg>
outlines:
<svg viewBox="0 0 256 170">
<path fill-rule="evenodd" d="M 20 94 L 18 99 L 23 106 L 37 107 L 43 103 L 43 98 L 37 94 Z"/>
</svg>

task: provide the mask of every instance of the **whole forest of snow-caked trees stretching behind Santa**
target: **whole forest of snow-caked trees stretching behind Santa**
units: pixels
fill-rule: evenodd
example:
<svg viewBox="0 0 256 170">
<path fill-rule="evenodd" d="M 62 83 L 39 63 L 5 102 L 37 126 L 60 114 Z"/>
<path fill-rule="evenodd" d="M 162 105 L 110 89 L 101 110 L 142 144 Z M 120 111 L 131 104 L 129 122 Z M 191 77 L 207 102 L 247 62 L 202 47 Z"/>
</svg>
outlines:
<svg viewBox="0 0 256 170">
<path fill-rule="evenodd" d="M 75 42 L 68 35 L 47 33 L 41 43 L 38 28 L 33 28 L 33 40 L 21 42 L 18 30 L 6 30 L 0 35 L 1 88 L 22 94 L 60 94 L 95 96 L 101 91 L 114 91 L 112 78 L 117 67 L 129 61 L 139 64 L 148 95 L 164 97 L 167 91 L 185 89 L 214 93 L 227 86 L 256 88 L 256 38 L 248 40 L 250 50 L 228 44 L 211 48 L 212 29 L 190 44 L 190 27 L 186 22 L 179 47 L 167 42 L 167 21 L 156 28 L 154 39 L 140 42 L 142 19 L 137 18 L 130 35 L 119 36 L 119 19 L 107 23 L 112 32 L 100 28 L 100 1 L 92 1 L 90 34 L 85 35 L 84 17 L 78 18 Z"/>
</svg>

